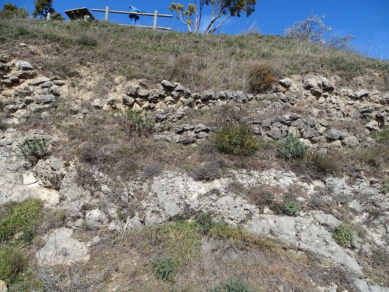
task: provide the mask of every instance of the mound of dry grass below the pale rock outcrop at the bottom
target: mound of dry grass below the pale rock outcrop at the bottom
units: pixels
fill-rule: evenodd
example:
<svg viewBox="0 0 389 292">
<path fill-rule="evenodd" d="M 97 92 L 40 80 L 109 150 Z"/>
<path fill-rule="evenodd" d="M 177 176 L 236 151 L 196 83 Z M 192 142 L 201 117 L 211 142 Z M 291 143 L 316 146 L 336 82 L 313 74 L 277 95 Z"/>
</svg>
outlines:
<svg viewBox="0 0 389 292">
<path fill-rule="evenodd" d="M 126 289 L 206 292 L 215 284 L 235 277 L 248 282 L 255 291 L 277 291 L 280 286 L 289 287 L 288 291 L 316 291 L 311 280 L 322 286 L 334 282 L 350 289 L 351 280 L 341 268 L 325 268 L 300 252 L 283 250 L 274 241 L 221 226 L 201 237 L 201 254 L 187 259 L 173 282 L 158 280 L 148 264 L 155 256 L 180 256 L 176 254 L 178 246 L 170 245 L 177 234 L 175 229 L 172 233 L 169 225 L 162 227 L 162 233 L 159 227 L 125 234 L 123 239 L 103 238 L 94 246 L 91 260 L 85 266 L 84 273 L 94 272 L 87 281 L 94 283 L 94 289 L 117 287 L 117 291 L 123 292 Z M 183 234 L 188 231 L 181 230 Z"/>
</svg>

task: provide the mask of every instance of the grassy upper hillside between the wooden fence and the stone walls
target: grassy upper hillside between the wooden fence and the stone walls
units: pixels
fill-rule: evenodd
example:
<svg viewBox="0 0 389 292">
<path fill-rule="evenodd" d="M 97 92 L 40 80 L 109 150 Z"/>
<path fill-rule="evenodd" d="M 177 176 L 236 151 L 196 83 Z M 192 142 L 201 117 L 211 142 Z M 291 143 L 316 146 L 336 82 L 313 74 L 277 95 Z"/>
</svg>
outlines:
<svg viewBox="0 0 389 292">
<path fill-rule="evenodd" d="M 87 67 L 102 75 L 103 87 L 115 74 L 146 78 L 152 84 L 170 79 L 198 90 L 248 89 L 253 68 L 260 66 L 275 78 L 335 74 L 347 84 L 366 75 L 366 84 L 358 86 L 389 88 L 388 61 L 281 36 L 184 34 L 105 22 L 20 19 L 0 19 L 0 36 L 3 53 L 29 59 L 61 77 L 77 79 Z M 20 42 L 30 47 L 19 46 Z"/>
</svg>

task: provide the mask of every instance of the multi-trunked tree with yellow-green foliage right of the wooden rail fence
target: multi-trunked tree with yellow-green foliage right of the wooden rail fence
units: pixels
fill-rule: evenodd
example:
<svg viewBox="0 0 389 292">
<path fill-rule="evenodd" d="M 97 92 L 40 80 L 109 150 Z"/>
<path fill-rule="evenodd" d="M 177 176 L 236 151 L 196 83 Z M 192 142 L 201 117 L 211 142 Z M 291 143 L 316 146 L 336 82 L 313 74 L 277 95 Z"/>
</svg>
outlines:
<svg viewBox="0 0 389 292">
<path fill-rule="evenodd" d="M 213 34 L 233 16 L 240 17 L 242 13 L 246 13 L 247 17 L 250 16 L 255 10 L 256 3 L 257 0 L 195 0 L 194 3 L 188 3 L 186 8 L 180 3 L 173 2 L 169 10 L 176 12 L 177 19 L 187 25 L 189 31 L 197 33 L 204 9 L 210 7 L 212 18 L 203 32 Z"/>
</svg>

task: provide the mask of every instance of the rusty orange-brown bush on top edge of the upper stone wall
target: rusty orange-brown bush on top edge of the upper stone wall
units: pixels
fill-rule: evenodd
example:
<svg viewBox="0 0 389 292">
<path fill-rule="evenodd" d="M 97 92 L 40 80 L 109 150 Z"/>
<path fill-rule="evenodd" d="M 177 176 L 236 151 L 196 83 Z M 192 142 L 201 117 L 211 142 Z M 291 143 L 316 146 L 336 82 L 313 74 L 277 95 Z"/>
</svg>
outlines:
<svg viewBox="0 0 389 292">
<path fill-rule="evenodd" d="M 258 64 L 251 68 L 248 87 L 251 93 L 264 93 L 272 89 L 275 80 L 264 64 Z"/>
</svg>

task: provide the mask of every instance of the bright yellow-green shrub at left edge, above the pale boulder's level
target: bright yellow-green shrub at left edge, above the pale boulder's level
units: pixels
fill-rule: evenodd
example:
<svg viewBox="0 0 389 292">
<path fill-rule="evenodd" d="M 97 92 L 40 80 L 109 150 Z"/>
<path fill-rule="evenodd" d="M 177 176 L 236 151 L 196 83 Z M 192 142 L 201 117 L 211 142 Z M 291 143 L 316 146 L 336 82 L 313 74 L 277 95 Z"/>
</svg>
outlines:
<svg viewBox="0 0 389 292">
<path fill-rule="evenodd" d="M 0 240 L 6 242 L 18 235 L 18 241 L 30 242 L 36 225 L 42 219 L 42 202 L 28 199 L 21 203 L 8 203 L 1 209 Z"/>
</svg>

